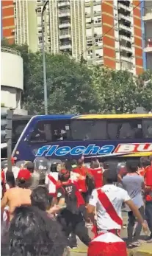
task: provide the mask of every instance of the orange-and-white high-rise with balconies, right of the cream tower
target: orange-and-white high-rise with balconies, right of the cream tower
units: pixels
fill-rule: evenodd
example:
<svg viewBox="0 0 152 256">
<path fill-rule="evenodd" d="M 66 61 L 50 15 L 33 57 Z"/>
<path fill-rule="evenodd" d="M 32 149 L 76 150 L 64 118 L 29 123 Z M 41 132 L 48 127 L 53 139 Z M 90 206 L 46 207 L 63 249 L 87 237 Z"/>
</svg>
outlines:
<svg viewBox="0 0 152 256">
<path fill-rule="evenodd" d="M 85 0 L 89 65 L 142 73 L 142 25 L 140 1 Z"/>
</svg>

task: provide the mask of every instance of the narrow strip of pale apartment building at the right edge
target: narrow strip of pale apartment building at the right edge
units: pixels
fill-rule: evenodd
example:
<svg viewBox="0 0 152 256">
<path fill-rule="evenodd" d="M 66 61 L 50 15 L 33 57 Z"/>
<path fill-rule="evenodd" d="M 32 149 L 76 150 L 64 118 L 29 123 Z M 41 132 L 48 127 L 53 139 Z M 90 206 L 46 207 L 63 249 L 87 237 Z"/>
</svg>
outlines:
<svg viewBox="0 0 152 256">
<path fill-rule="evenodd" d="M 144 21 L 144 52 L 145 68 L 152 70 L 152 1 L 144 1 L 143 17 Z"/>
</svg>

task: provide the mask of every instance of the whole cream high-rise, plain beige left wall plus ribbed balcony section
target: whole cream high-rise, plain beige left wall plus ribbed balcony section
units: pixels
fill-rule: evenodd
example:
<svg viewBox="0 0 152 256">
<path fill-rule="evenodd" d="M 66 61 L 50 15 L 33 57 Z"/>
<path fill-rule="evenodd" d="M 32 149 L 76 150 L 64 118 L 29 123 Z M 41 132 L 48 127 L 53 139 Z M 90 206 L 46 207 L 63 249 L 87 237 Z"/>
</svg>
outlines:
<svg viewBox="0 0 152 256">
<path fill-rule="evenodd" d="M 49 0 L 43 15 L 43 0 L 15 1 L 15 38 L 29 49 L 42 49 L 42 29 L 48 52 L 68 52 L 79 60 L 85 48 L 84 1 Z"/>
</svg>

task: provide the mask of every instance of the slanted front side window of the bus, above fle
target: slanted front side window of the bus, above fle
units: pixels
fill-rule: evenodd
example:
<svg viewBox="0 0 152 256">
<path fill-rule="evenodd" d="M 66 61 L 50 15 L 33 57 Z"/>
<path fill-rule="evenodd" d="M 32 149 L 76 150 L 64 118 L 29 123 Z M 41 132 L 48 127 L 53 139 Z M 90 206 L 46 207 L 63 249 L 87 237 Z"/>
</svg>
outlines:
<svg viewBox="0 0 152 256">
<path fill-rule="evenodd" d="M 32 132 L 30 142 L 56 142 L 69 139 L 70 124 L 67 120 L 39 121 Z"/>
</svg>

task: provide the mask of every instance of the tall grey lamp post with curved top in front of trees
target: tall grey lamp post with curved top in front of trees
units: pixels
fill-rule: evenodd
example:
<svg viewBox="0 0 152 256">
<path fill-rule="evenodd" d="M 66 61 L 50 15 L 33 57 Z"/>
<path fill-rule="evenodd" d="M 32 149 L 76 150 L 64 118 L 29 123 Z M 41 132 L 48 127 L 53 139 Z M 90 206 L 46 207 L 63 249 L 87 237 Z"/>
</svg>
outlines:
<svg viewBox="0 0 152 256">
<path fill-rule="evenodd" d="M 45 114 L 48 114 L 48 96 L 47 96 L 47 84 L 46 84 L 46 54 L 45 54 L 45 44 L 44 44 L 44 30 L 43 30 L 43 16 L 46 10 L 46 4 L 48 0 L 43 4 L 43 10 L 41 13 L 41 26 L 42 26 L 42 41 L 43 41 L 43 86 L 44 86 L 44 108 Z"/>
</svg>

